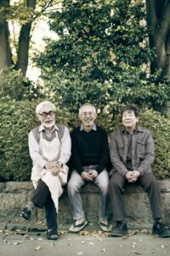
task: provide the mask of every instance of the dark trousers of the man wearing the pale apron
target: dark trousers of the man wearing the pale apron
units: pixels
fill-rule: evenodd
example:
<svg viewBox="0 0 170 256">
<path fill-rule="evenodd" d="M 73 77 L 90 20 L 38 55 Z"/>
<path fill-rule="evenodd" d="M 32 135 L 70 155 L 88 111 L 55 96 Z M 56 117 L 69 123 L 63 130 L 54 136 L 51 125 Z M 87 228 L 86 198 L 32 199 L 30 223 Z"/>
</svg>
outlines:
<svg viewBox="0 0 170 256">
<path fill-rule="evenodd" d="M 51 198 L 51 193 L 48 186 L 42 180 L 38 182 L 37 189 L 35 189 L 31 201 L 36 207 L 45 207 L 48 229 L 57 230 L 57 213 L 54 206 L 54 201 Z"/>
</svg>

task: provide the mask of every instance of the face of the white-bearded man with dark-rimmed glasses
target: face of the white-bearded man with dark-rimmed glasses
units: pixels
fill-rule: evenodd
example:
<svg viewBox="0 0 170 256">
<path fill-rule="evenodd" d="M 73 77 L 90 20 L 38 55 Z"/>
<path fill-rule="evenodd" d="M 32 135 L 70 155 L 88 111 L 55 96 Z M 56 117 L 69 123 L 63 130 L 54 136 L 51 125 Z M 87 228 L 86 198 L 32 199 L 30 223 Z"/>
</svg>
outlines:
<svg viewBox="0 0 170 256">
<path fill-rule="evenodd" d="M 55 113 L 51 106 L 44 106 L 41 113 L 37 114 L 37 117 L 46 130 L 52 131 L 55 123 Z"/>
</svg>

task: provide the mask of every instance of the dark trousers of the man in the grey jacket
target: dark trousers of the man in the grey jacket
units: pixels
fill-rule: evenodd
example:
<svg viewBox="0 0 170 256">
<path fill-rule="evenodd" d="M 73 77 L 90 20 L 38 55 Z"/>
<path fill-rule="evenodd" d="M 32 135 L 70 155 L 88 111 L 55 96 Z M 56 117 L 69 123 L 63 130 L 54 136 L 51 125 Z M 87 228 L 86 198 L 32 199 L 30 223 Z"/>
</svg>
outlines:
<svg viewBox="0 0 170 256">
<path fill-rule="evenodd" d="M 147 172 L 142 177 L 139 177 L 136 183 L 144 189 L 149 197 L 153 218 L 161 218 L 161 191 L 156 177 L 151 172 Z M 109 183 L 109 194 L 115 221 L 125 220 L 122 194 L 126 184 L 127 179 L 125 177 L 119 172 L 113 173 Z"/>
</svg>

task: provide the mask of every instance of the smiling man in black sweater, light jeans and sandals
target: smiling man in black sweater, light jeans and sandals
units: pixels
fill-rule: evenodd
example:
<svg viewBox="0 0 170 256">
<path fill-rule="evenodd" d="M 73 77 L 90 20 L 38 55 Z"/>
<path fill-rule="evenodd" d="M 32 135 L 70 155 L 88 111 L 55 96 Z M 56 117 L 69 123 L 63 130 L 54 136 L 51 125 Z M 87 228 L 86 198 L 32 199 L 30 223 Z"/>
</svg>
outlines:
<svg viewBox="0 0 170 256">
<path fill-rule="evenodd" d="M 74 224 L 70 231 L 82 230 L 88 221 L 82 209 L 81 188 L 85 183 L 99 187 L 99 226 L 109 231 L 106 216 L 109 177 L 109 143 L 106 131 L 94 124 L 97 117 L 94 105 L 86 103 L 79 109 L 82 125 L 71 131 L 71 162 L 73 172 L 68 183 L 68 195 L 73 210 Z"/>
</svg>

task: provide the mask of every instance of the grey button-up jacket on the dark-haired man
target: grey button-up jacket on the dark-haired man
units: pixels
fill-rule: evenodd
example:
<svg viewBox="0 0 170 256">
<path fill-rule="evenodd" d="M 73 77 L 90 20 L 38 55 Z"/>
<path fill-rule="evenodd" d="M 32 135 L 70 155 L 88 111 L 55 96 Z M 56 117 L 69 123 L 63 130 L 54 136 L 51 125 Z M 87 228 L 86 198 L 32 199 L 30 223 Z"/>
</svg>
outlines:
<svg viewBox="0 0 170 256">
<path fill-rule="evenodd" d="M 127 136 L 124 127 L 111 132 L 110 153 L 113 168 L 110 172 L 119 172 L 123 176 L 128 172 L 127 161 Z M 132 139 L 132 166 L 134 171 L 139 171 L 141 176 L 151 172 L 151 164 L 154 161 L 154 142 L 149 130 L 138 126 Z"/>
</svg>

